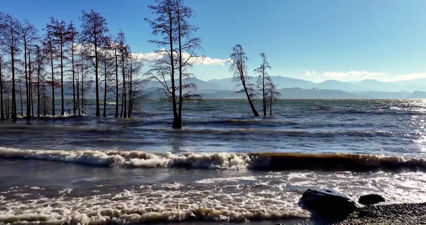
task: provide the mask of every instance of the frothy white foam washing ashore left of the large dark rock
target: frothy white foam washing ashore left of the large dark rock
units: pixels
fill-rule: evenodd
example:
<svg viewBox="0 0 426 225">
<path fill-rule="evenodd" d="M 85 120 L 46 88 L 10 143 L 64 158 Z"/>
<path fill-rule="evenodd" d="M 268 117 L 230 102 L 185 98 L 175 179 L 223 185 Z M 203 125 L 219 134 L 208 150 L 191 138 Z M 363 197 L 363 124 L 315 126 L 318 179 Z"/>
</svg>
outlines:
<svg viewBox="0 0 426 225">
<path fill-rule="evenodd" d="M 6 201 L 0 197 L 0 222 L 96 225 L 109 220 L 130 223 L 187 219 L 247 221 L 310 216 L 297 206 L 298 197 L 295 193 L 269 190 L 221 193 L 217 190 L 152 190 L 150 186 L 76 198 Z"/>
</svg>

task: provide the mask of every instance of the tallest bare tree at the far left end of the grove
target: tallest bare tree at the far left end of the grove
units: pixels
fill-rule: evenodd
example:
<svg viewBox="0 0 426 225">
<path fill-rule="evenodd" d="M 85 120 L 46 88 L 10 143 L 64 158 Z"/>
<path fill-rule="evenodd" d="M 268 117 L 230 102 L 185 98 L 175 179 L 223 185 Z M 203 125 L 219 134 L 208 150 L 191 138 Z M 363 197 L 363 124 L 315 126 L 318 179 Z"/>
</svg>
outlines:
<svg viewBox="0 0 426 225">
<path fill-rule="evenodd" d="M 9 52 L 10 54 L 10 70 L 12 72 L 12 121 L 17 121 L 16 113 L 16 90 L 15 90 L 15 63 L 17 60 L 17 54 L 20 53 L 21 41 L 18 35 L 18 30 L 20 27 L 20 22 L 16 20 L 9 14 L 6 14 L 4 18 L 4 29 L 1 32 L 0 38 L 0 47 L 4 52 Z"/>
</svg>

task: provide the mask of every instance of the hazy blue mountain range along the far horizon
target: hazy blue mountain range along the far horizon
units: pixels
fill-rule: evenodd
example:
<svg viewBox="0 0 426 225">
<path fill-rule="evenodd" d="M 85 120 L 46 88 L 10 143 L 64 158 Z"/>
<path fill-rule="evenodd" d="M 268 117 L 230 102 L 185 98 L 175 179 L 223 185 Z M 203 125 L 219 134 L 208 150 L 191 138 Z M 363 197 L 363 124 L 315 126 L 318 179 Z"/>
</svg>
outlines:
<svg viewBox="0 0 426 225">
<path fill-rule="evenodd" d="M 282 98 L 426 98 L 426 78 L 394 82 L 371 79 L 351 82 L 328 80 L 320 83 L 282 76 L 271 76 L 271 79 L 278 85 Z M 245 95 L 233 95 L 235 83 L 231 80 L 232 78 L 224 78 L 202 81 L 190 78 L 185 79 L 183 83 L 196 84 L 197 92 L 203 98 L 245 98 Z M 255 83 L 256 78 L 250 81 Z M 170 84 L 171 81 L 168 82 L 168 85 Z M 94 87 L 92 84 L 93 90 L 87 93 L 87 97 L 95 97 Z M 149 95 L 150 98 L 159 98 L 161 95 L 156 92 L 159 87 L 160 83 L 150 81 L 146 84 L 143 94 Z M 72 90 L 65 92 L 72 93 Z M 108 98 L 113 97 L 112 94 L 108 95 Z"/>
</svg>

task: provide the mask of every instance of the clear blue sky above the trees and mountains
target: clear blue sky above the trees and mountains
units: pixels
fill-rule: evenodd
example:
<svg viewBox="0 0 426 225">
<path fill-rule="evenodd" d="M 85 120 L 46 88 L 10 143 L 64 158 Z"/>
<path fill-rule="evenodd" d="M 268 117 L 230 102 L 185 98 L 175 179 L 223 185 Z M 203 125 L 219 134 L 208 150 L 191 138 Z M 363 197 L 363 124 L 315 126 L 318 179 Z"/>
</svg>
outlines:
<svg viewBox="0 0 426 225">
<path fill-rule="evenodd" d="M 250 71 L 264 52 L 271 75 L 311 81 L 381 81 L 426 77 L 425 0 L 186 0 L 200 27 L 201 54 L 216 60 L 197 65 L 201 80 L 227 78 L 231 48 L 241 44 Z M 100 12 L 111 33 L 122 29 L 132 51 L 147 58 L 156 46 L 144 22 L 154 0 L 15 0 L 0 10 L 28 18 L 39 29 L 50 17 L 74 20 L 81 10 Z M 149 60 L 148 60 L 149 61 Z M 253 73 L 251 73 L 253 75 Z"/>
</svg>

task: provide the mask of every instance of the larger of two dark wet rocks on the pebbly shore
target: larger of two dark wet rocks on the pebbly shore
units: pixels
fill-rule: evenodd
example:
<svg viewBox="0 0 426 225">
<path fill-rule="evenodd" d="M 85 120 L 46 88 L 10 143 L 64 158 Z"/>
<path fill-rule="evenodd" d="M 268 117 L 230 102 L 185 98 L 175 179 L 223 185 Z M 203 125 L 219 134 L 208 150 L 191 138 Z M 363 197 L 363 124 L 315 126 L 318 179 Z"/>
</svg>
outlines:
<svg viewBox="0 0 426 225">
<path fill-rule="evenodd" d="M 348 196 L 335 190 L 308 189 L 299 200 L 299 205 L 321 216 L 347 216 L 357 209 Z"/>
</svg>

